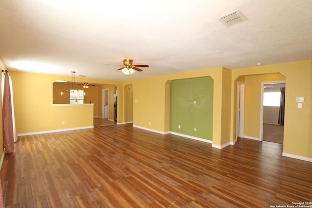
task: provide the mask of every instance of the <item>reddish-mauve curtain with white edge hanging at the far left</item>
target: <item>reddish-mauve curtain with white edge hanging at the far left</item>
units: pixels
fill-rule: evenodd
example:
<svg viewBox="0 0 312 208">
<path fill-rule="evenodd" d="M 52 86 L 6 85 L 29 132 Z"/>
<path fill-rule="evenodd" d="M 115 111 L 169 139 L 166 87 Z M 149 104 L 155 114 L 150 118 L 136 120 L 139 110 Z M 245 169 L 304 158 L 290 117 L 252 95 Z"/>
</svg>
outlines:
<svg viewBox="0 0 312 208">
<path fill-rule="evenodd" d="M 18 137 L 14 119 L 12 81 L 8 71 L 2 76 L 2 125 L 5 152 L 13 151 L 14 142 Z"/>
</svg>

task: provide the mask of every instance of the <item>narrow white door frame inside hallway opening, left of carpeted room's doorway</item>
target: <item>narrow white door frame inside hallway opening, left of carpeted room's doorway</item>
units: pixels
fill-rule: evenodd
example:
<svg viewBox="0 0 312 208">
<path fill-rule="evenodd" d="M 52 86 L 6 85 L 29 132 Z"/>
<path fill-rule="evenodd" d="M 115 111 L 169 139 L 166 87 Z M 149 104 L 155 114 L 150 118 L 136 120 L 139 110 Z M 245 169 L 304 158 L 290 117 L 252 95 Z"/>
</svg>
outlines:
<svg viewBox="0 0 312 208">
<path fill-rule="evenodd" d="M 245 120 L 245 83 L 237 82 L 237 101 L 236 101 L 236 138 L 244 137 Z"/>
</svg>

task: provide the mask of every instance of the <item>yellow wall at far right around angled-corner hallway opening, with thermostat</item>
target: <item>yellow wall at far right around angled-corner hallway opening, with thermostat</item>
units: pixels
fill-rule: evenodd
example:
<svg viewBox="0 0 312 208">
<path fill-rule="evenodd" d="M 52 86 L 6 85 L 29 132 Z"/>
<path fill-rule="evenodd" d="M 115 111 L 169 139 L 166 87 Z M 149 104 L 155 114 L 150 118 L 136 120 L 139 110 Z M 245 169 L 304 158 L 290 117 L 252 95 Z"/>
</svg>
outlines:
<svg viewBox="0 0 312 208">
<path fill-rule="evenodd" d="M 312 158 L 312 60 L 233 70 L 232 98 L 236 100 L 235 79 L 237 77 L 245 76 L 246 78 L 249 75 L 271 73 L 281 73 L 286 77 L 283 152 Z M 296 97 L 305 97 L 302 109 L 297 108 Z M 236 137 L 236 102 L 232 102 L 232 106 L 231 137 L 234 140 Z M 249 119 L 248 116 L 245 115 L 245 118 Z M 253 131 L 257 132 L 257 130 Z M 253 135 L 257 136 L 257 134 Z"/>
</svg>

